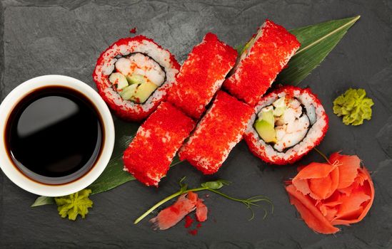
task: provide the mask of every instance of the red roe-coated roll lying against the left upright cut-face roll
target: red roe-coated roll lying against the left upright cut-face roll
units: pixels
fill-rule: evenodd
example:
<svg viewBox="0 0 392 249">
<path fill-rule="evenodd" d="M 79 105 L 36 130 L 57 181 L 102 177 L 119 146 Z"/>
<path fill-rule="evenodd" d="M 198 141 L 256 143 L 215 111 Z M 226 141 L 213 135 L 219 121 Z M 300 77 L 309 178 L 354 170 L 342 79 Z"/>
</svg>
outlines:
<svg viewBox="0 0 392 249">
<path fill-rule="evenodd" d="M 236 63 L 237 52 L 207 33 L 181 66 L 176 83 L 169 90 L 168 101 L 186 115 L 198 119 L 227 73 Z"/>
</svg>

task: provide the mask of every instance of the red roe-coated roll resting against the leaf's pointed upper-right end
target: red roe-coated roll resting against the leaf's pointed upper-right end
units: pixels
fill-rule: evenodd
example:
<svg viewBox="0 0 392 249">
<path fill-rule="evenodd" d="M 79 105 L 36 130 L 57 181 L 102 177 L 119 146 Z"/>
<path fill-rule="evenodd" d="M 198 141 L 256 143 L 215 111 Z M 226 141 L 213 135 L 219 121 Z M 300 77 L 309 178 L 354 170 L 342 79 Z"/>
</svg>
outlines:
<svg viewBox="0 0 392 249">
<path fill-rule="evenodd" d="M 282 26 L 266 20 L 243 48 L 223 88 L 255 106 L 301 44 Z"/>
</svg>

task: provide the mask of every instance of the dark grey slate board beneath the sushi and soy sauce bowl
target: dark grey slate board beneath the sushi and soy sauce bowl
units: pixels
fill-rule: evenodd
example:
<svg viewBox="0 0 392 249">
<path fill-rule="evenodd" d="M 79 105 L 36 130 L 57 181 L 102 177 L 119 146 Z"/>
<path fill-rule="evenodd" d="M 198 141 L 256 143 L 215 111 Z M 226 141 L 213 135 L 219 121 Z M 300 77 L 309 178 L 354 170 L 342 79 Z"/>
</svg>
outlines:
<svg viewBox="0 0 392 249">
<path fill-rule="evenodd" d="M 392 3 L 391 1 L 1 1 L 0 97 L 16 85 L 44 74 L 64 74 L 94 85 L 96 58 L 118 38 L 138 33 L 154 38 L 181 62 L 212 31 L 232 46 L 244 43 L 265 18 L 286 28 L 360 14 L 341 43 L 303 81 L 319 95 L 331 127 L 319 147 L 325 153 L 358 154 L 373 171 L 376 198 L 368 216 L 336 235 L 318 235 L 298 219 L 283 181 L 295 166 L 272 167 L 253 157 L 244 142 L 233 149 L 216 177 L 233 181 L 233 196 L 266 194 L 275 213 L 250 213 L 218 196 L 206 199 L 210 214 L 198 235 L 184 221 L 154 232 L 134 218 L 176 191 L 176 182 L 205 178 L 189 164 L 169 171 L 159 189 L 130 182 L 93 196 L 85 220 L 62 220 L 56 206 L 30 208 L 36 196 L 0 175 L 2 248 L 391 248 L 392 237 Z M 373 118 L 347 127 L 331 111 L 332 100 L 349 87 L 365 88 L 376 105 Z M 4 155 L 0 155 L 4 157 Z M 300 164 L 322 161 L 312 152 Z M 299 165 L 299 164 L 296 164 Z"/>
</svg>

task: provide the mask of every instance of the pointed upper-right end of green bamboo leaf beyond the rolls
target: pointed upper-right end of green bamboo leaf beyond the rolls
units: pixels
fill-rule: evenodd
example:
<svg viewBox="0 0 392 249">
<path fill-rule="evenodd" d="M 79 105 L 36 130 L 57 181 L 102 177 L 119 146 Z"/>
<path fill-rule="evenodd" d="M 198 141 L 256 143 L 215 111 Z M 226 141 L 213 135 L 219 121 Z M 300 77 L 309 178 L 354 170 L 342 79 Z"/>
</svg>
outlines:
<svg viewBox="0 0 392 249">
<path fill-rule="evenodd" d="M 294 28 L 293 33 L 301 43 L 301 48 L 288 62 L 276 79 L 278 83 L 298 85 L 311 71 L 320 65 L 329 52 L 341 41 L 348 28 L 361 16 L 318 23 L 303 28 Z"/>
</svg>

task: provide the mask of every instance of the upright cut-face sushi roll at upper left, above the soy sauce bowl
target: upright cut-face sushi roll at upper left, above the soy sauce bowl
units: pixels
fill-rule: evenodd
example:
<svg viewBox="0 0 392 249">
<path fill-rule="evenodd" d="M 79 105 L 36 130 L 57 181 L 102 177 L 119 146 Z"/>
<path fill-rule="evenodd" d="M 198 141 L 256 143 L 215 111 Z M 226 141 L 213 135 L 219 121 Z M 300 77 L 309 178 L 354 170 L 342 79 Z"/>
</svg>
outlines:
<svg viewBox="0 0 392 249">
<path fill-rule="evenodd" d="M 135 36 L 122 38 L 101 53 L 93 78 L 117 116 L 141 121 L 164 100 L 179 68 L 169 51 L 150 38 Z"/>
</svg>

